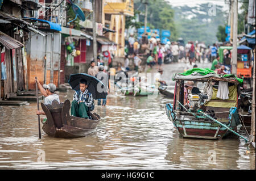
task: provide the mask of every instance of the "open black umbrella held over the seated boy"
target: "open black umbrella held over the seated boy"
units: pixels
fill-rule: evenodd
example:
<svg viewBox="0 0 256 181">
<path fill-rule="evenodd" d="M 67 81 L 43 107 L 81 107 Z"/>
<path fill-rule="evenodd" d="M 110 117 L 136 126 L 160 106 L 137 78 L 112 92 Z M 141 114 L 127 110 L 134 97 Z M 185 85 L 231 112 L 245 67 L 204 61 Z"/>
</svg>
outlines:
<svg viewBox="0 0 256 181">
<path fill-rule="evenodd" d="M 79 91 L 79 82 L 81 79 L 85 79 L 87 81 L 87 90 L 93 95 L 93 99 L 106 99 L 106 96 L 108 95 L 106 86 L 99 79 L 93 77 L 92 75 L 84 73 L 70 74 L 68 83 L 73 90 Z"/>
</svg>

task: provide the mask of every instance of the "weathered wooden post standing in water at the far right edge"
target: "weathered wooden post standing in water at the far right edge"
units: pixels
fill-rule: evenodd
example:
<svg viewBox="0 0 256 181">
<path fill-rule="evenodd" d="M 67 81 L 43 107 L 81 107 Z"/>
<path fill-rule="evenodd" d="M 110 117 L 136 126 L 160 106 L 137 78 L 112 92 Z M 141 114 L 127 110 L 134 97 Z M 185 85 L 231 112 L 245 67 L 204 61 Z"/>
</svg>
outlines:
<svg viewBox="0 0 256 181">
<path fill-rule="evenodd" d="M 255 76 L 256 76 L 256 68 L 255 68 L 255 48 L 254 48 L 254 60 L 253 60 L 253 102 L 251 103 L 251 134 L 253 135 L 255 142 Z"/>
</svg>

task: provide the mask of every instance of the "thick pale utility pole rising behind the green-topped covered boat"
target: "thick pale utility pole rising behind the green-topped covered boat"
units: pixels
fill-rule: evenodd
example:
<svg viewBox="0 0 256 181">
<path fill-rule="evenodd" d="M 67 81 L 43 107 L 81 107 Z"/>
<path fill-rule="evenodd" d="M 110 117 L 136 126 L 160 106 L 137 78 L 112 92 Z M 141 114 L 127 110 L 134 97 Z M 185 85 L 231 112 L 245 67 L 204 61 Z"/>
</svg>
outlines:
<svg viewBox="0 0 256 181">
<path fill-rule="evenodd" d="M 232 74 L 237 74 L 237 22 L 238 22 L 238 1 L 233 2 L 233 49 L 232 49 Z"/>
</svg>

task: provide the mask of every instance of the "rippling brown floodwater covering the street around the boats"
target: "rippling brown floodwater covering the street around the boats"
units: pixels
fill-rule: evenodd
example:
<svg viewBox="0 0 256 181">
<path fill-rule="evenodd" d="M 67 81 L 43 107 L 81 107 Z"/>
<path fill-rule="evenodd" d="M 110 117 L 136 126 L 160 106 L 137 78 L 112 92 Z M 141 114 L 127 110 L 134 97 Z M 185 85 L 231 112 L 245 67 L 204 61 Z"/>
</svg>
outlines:
<svg viewBox="0 0 256 181">
<path fill-rule="evenodd" d="M 61 92 L 61 102 L 72 95 Z M 109 95 L 94 110 L 102 117 L 96 132 L 64 139 L 42 130 L 42 140 L 36 103 L 0 106 L 0 169 L 255 169 L 255 150 L 246 154 L 242 139 L 180 138 L 165 113 L 170 102 Z"/>
</svg>

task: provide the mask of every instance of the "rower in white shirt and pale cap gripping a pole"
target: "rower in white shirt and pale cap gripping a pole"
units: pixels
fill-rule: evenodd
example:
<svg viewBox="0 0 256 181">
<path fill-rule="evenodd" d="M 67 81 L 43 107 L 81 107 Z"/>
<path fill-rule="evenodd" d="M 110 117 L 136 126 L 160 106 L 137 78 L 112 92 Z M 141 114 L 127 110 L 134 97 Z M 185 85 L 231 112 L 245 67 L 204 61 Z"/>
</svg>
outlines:
<svg viewBox="0 0 256 181">
<path fill-rule="evenodd" d="M 35 79 L 35 82 L 38 84 L 38 88 L 44 98 L 44 104 L 52 104 L 53 100 L 57 100 L 57 102 L 60 103 L 59 95 L 55 94 L 56 86 L 53 83 L 49 83 L 48 85 L 44 84 L 43 86 L 38 81 L 38 79 Z M 44 111 L 36 111 L 37 115 L 46 115 Z M 42 118 L 41 121 L 44 123 L 47 119 Z"/>
</svg>

